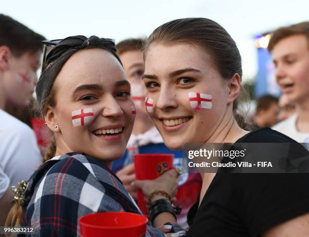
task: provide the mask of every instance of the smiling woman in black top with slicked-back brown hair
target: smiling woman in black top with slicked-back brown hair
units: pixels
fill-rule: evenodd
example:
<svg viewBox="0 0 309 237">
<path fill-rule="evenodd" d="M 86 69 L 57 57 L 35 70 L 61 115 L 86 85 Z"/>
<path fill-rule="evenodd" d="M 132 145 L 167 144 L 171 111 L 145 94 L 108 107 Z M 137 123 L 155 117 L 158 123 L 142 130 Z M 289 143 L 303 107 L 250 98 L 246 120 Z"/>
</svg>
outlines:
<svg viewBox="0 0 309 237">
<path fill-rule="evenodd" d="M 283 134 L 242 129 L 241 57 L 218 23 L 185 18 L 159 26 L 148 38 L 144 61 L 148 112 L 170 149 L 184 143 L 287 143 L 288 159 L 308 161 L 306 149 Z M 186 236 L 309 236 L 309 175 L 290 173 L 288 162 L 283 167 L 286 173 L 199 169 L 198 210 Z"/>
</svg>

